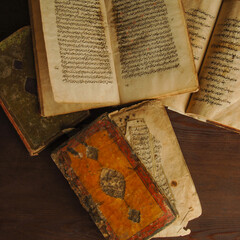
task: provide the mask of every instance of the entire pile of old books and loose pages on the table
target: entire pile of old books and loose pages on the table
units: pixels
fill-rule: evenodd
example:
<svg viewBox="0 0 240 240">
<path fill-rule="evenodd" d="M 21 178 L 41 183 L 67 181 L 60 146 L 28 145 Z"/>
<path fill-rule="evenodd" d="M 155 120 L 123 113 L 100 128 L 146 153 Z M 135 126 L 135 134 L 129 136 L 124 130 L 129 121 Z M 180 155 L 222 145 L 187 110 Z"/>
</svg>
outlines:
<svg viewBox="0 0 240 240">
<path fill-rule="evenodd" d="M 0 104 L 29 153 L 89 109 L 144 100 L 100 116 L 52 159 L 106 239 L 189 234 L 201 204 L 164 106 L 240 131 L 240 2 L 29 7 L 31 27 L 0 43 Z"/>
</svg>

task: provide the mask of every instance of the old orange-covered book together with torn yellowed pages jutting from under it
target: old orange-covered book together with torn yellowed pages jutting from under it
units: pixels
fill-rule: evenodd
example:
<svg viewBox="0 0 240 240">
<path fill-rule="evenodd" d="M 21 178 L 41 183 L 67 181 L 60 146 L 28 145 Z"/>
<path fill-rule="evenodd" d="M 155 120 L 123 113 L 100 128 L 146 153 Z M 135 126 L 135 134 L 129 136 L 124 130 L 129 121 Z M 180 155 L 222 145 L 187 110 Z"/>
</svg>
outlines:
<svg viewBox="0 0 240 240">
<path fill-rule="evenodd" d="M 52 158 L 106 239 L 186 235 L 201 215 L 160 101 L 101 116 Z"/>
</svg>

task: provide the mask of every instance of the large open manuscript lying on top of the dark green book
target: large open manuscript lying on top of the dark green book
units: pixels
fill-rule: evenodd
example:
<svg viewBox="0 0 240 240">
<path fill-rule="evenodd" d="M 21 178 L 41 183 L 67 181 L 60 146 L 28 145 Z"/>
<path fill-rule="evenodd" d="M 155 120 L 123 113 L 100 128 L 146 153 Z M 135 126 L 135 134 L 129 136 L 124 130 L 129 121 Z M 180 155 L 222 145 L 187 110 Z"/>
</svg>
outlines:
<svg viewBox="0 0 240 240">
<path fill-rule="evenodd" d="M 180 0 L 29 5 L 43 115 L 198 90 Z"/>
</svg>

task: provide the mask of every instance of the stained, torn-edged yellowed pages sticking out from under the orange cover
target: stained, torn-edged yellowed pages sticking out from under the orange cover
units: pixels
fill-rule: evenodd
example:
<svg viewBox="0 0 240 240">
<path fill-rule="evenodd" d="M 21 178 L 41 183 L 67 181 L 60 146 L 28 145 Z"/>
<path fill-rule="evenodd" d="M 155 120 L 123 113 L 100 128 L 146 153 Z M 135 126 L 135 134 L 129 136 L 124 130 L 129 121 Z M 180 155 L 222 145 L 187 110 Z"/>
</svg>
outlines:
<svg viewBox="0 0 240 240">
<path fill-rule="evenodd" d="M 201 215 L 201 204 L 161 101 L 134 105 L 110 114 L 110 118 L 177 212 L 177 219 L 153 237 L 189 234 L 185 227 Z"/>
</svg>

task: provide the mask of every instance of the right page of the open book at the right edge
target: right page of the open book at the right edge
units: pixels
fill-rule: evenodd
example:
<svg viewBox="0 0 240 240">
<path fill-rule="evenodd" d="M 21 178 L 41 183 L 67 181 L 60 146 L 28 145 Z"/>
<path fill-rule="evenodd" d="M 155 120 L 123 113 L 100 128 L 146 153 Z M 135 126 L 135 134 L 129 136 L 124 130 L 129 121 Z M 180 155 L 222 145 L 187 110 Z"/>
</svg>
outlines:
<svg viewBox="0 0 240 240">
<path fill-rule="evenodd" d="M 188 113 L 240 129 L 240 1 L 224 0 Z"/>
</svg>

